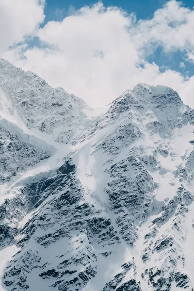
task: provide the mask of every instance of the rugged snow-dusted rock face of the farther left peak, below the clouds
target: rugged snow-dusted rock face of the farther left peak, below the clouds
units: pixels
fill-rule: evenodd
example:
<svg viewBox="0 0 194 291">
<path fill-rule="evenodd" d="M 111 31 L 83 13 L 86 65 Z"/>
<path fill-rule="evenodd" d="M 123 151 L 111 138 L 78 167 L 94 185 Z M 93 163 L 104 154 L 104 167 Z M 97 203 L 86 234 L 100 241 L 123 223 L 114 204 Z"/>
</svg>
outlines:
<svg viewBox="0 0 194 291">
<path fill-rule="evenodd" d="M 33 72 L 24 72 L 3 59 L 0 86 L 27 127 L 48 133 L 56 142 L 68 143 L 90 122 L 83 111 L 89 107 L 80 98 L 62 88 L 51 88 Z"/>
</svg>

